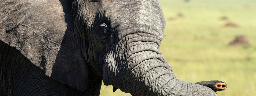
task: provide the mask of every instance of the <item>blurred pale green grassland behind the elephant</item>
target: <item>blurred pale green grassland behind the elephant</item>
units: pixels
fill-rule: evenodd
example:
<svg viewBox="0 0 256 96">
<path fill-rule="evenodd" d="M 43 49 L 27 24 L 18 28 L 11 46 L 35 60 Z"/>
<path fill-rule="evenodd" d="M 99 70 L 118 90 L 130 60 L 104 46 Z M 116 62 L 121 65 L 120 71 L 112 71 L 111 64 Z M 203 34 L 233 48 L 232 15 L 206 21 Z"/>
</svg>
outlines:
<svg viewBox="0 0 256 96">
<path fill-rule="evenodd" d="M 256 0 L 159 0 L 166 19 L 160 50 L 183 81 L 221 80 L 220 96 L 256 94 Z M 249 45 L 229 46 L 236 35 Z M 130 96 L 102 84 L 100 96 Z"/>
</svg>

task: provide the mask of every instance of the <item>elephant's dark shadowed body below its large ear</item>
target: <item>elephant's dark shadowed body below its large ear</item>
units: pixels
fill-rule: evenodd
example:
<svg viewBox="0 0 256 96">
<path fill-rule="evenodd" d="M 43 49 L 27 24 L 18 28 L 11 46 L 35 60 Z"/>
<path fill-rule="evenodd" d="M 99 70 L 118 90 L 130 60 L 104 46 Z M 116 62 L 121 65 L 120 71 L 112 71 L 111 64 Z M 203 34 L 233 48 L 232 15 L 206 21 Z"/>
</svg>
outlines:
<svg viewBox="0 0 256 96">
<path fill-rule="evenodd" d="M 99 95 L 102 77 L 94 76 L 97 81 L 89 83 L 87 90 L 77 90 L 45 75 L 15 47 L 2 41 L 0 46 L 1 96 Z"/>
</svg>

